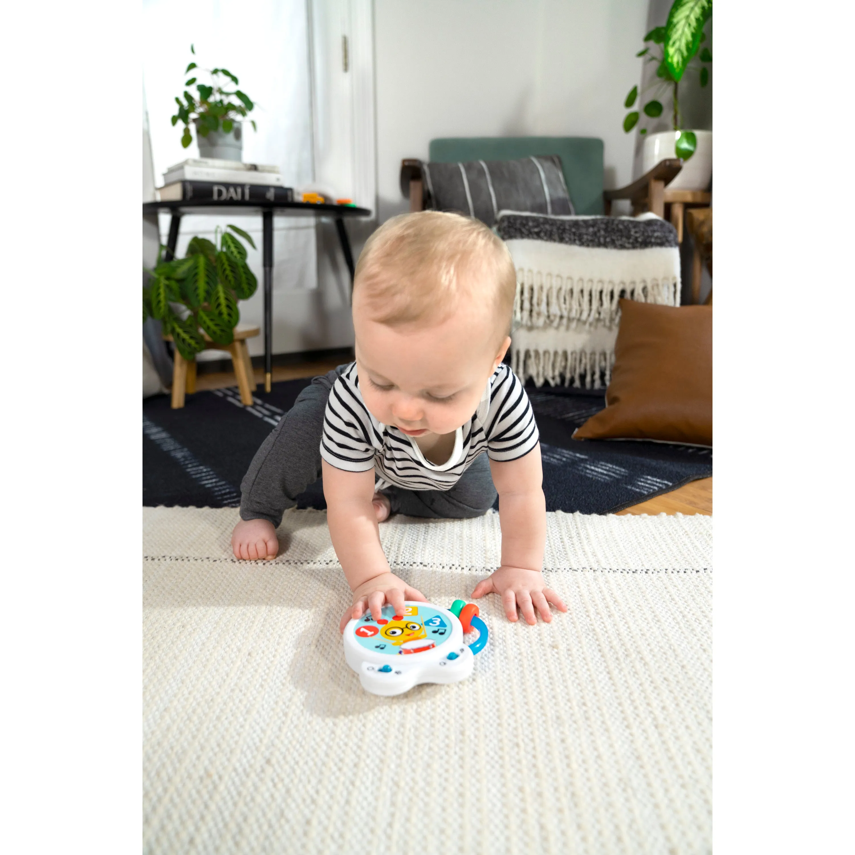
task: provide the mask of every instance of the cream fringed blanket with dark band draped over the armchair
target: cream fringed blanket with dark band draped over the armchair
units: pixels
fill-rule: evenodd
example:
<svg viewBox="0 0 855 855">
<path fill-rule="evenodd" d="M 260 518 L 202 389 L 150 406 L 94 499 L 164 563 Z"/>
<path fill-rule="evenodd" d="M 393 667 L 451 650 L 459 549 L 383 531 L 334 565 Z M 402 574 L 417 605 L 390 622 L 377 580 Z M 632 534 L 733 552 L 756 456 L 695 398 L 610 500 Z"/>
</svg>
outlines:
<svg viewBox="0 0 855 855">
<path fill-rule="evenodd" d="M 655 215 L 549 216 L 502 211 L 516 266 L 511 360 L 537 386 L 607 386 L 621 298 L 680 304 L 680 252 Z"/>
</svg>

